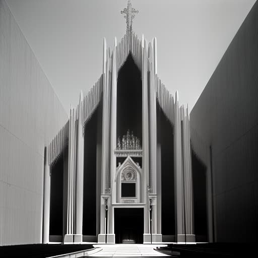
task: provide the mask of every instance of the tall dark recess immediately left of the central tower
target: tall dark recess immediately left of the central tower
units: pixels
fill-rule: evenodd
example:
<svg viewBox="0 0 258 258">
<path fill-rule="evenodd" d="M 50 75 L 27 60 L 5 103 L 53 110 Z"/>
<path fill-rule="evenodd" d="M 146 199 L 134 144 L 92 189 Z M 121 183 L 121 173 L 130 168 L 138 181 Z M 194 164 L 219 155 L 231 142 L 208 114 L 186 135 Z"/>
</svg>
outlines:
<svg viewBox="0 0 258 258">
<path fill-rule="evenodd" d="M 83 184 L 83 235 L 96 236 L 97 198 L 97 134 L 99 105 L 85 126 L 84 132 L 84 184 Z"/>
</svg>

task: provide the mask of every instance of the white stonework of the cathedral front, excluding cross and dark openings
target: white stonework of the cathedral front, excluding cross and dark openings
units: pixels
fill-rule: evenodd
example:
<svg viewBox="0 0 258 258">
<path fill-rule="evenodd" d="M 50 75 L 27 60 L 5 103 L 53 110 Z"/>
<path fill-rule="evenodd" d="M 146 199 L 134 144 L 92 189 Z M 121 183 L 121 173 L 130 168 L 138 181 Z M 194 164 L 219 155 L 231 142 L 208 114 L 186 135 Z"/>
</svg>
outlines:
<svg viewBox="0 0 258 258">
<path fill-rule="evenodd" d="M 132 54 L 134 62 L 141 71 L 142 79 L 142 144 L 140 149 L 117 148 L 117 76 L 127 56 Z M 118 96 L 119 97 L 119 96 Z M 49 166 L 58 159 L 69 142 L 67 228 L 64 242 L 83 241 L 83 177 L 84 177 L 84 127 L 98 107 L 102 105 L 102 146 L 101 146 L 101 189 L 98 242 L 115 242 L 115 208 L 142 208 L 144 210 L 143 242 L 161 242 L 160 185 L 157 180 L 157 115 L 156 103 L 159 103 L 174 132 L 174 190 L 175 191 L 175 240 L 195 241 L 193 233 L 192 179 L 189 138 L 188 110 L 179 106 L 178 93 L 175 99 L 167 91 L 157 76 L 157 40 L 149 44 L 144 36 L 140 40 L 132 31 L 127 31 L 119 43 L 115 38 L 113 52 L 103 43 L 103 73 L 86 97 L 80 95 L 76 108 L 71 107 L 69 124 L 65 125 L 48 146 Z M 139 147 L 137 147 L 139 148 Z M 125 157 L 122 164 L 116 157 Z M 141 157 L 142 165 L 136 164 L 132 157 Z M 127 172 L 126 172 L 127 171 Z M 49 177 L 48 177 L 49 178 Z M 126 181 L 127 180 L 127 181 Z M 49 180 L 46 180 L 49 183 Z M 124 198 L 122 183 L 136 190 L 135 197 Z M 128 185 L 131 183 L 131 185 Z M 133 185 L 135 184 L 135 185 Z M 45 185 L 45 211 L 49 207 L 49 187 Z M 152 222 L 150 222 L 150 204 Z M 158 208 L 159 207 L 159 208 Z M 107 216 L 107 219 L 105 217 Z M 48 214 L 44 214 L 44 242 L 49 241 Z M 107 225 L 106 225 L 107 224 Z"/>
</svg>

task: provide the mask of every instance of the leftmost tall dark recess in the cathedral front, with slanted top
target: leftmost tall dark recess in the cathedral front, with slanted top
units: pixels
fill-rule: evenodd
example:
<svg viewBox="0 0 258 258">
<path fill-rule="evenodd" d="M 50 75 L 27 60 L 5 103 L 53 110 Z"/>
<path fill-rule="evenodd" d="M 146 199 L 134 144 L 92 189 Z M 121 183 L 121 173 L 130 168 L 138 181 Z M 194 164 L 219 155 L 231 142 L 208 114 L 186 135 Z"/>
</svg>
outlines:
<svg viewBox="0 0 258 258">
<path fill-rule="evenodd" d="M 63 235 L 63 156 L 51 166 L 49 240 L 62 241 Z M 52 239 L 51 239 L 52 238 Z"/>
</svg>

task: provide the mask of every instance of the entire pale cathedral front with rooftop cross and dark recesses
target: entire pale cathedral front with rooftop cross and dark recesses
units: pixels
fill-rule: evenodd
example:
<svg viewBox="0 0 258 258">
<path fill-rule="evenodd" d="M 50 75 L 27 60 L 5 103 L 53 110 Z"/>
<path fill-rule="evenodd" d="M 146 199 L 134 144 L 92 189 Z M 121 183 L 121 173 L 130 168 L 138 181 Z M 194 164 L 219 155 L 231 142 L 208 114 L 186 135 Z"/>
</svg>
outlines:
<svg viewBox="0 0 258 258">
<path fill-rule="evenodd" d="M 103 72 L 45 148 L 43 242 L 195 242 L 188 110 L 157 74 L 157 40 L 103 42 Z"/>
</svg>

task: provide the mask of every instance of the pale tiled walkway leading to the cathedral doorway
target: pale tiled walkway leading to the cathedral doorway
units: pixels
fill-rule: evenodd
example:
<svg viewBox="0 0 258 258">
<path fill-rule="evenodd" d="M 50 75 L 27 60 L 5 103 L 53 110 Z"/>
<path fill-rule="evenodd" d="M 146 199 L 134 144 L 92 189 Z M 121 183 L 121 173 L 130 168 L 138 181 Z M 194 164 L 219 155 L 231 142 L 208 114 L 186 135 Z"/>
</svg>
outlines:
<svg viewBox="0 0 258 258">
<path fill-rule="evenodd" d="M 94 244 L 94 247 L 103 248 L 101 251 L 93 253 L 96 257 L 125 257 L 125 256 L 169 256 L 154 250 L 164 244 Z"/>
</svg>

